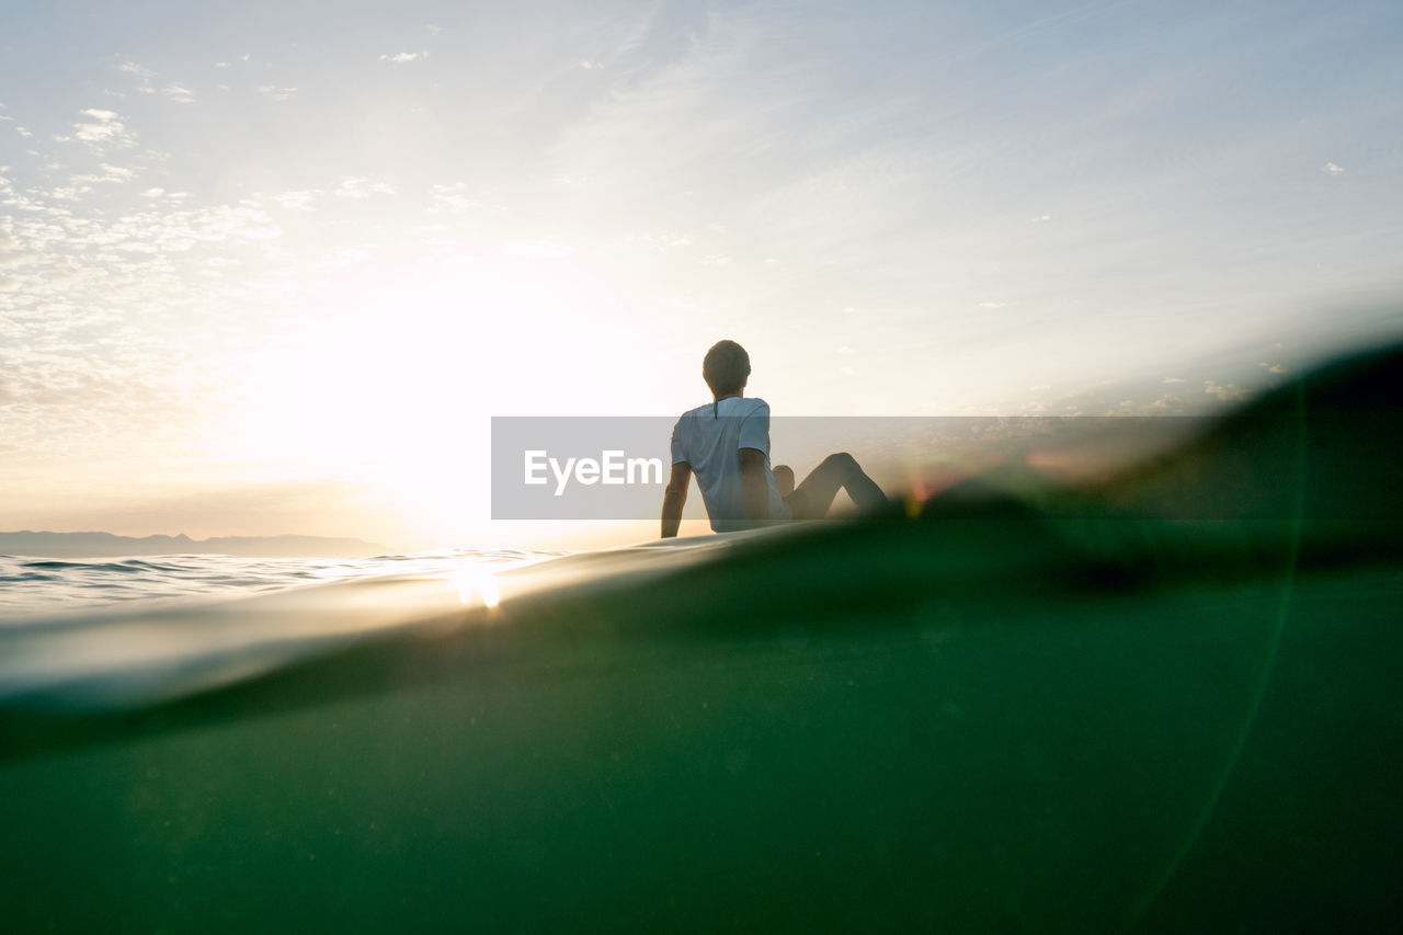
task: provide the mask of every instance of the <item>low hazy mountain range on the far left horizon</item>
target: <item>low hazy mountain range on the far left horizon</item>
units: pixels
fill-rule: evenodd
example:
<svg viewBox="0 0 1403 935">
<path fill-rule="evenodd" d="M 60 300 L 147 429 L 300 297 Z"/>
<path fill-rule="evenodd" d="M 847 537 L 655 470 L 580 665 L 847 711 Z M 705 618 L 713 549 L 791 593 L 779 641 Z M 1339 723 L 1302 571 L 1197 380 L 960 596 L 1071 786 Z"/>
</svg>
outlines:
<svg viewBox="0 0 1403 935">
<path fill-rule="evenodd" d="M 111 532 L 0 532 L 0 555 L 77 559 L 126 555 L 237 555 L 248 557 L 358 557 L 384 555 L 382 545 L 324 536 L 115 536 Z"/>
</svg>

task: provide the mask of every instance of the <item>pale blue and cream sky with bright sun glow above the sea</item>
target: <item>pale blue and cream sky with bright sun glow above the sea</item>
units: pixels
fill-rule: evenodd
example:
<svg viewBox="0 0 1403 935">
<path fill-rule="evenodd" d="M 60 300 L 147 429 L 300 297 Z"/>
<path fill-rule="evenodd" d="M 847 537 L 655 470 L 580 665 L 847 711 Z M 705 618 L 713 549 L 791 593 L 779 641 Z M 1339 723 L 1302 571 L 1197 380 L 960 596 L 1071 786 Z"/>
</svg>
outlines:
<svg viewBox="0 0 1403 935">
<path fill-rule="evenodd" d="M 6 4 L 0 528 L 558 538 L 490 522 L 490 418 L 679 413 L 721 337 L 776 414 L 1223 411 L 1403 334 L 1399 48 L 1393 0 Z"/>
</svg>

